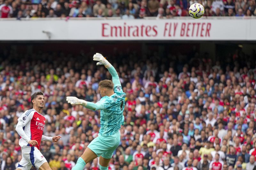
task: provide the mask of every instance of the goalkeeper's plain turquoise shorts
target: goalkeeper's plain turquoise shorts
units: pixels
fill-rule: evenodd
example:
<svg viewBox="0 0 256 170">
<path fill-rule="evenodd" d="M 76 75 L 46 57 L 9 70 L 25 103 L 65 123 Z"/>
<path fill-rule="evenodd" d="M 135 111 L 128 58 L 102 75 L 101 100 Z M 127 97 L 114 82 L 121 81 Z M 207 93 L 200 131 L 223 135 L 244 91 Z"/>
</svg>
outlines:
<svg viewBox="0 0 256 170">
<path fill-rule="evenodd" d="M 120 144 L 120 132 L 112 136 L 98 136 L 92 140 L 92 142 L 87 146 L 92 150 L 98 157 L 110 159 L 113 156 L 114 151 Z"/>
</svg>

